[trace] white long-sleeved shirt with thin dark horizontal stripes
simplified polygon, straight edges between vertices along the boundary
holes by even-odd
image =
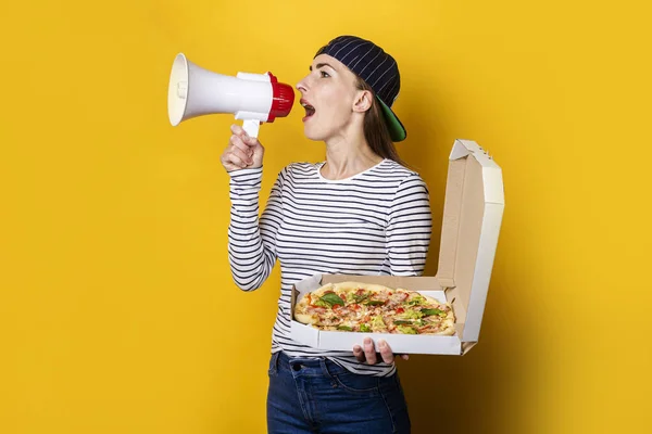
[[[324,163],[294,163],[278,175],[259,218],[262,167],[230,176],[228,254],[236,284],[259,289],[280,261],[272,352],[327,357],[348,370],[391,375],[393,365],[359,362],[351,352],[300,344],[290,334],[292,285],[316,273],[419,276],[430,243],[428,190],[418,174],[384,159],[351,178],[322,177]]]

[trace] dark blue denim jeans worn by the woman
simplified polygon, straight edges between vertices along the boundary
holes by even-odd
[[[267,432],[273,434],[410,433],[399,375],[352,373],[327,360],[272,355]]]

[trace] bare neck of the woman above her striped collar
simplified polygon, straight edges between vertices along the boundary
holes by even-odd
[[[364,132],[339,136],[326,141],[326,164],[322,176],[326,179],[346,179],[367,170],[383,161],[364,138]]]

